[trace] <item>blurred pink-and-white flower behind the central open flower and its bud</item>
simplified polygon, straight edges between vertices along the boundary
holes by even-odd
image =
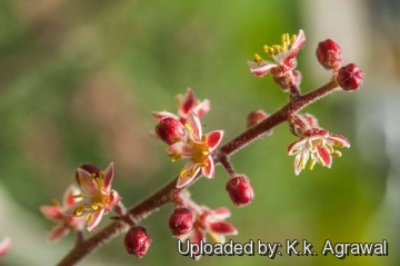
[[[202,117],[210,110],[210,101],[208,99],[199,101],[192,89],[188,89],[186,95],[177,95],[176,102],[178,106],[178,116],[169,111],[154,111],[152,115],[157,121],[164,118],[173,118],[186,124],[189,114],[192,111],[198,117]]]

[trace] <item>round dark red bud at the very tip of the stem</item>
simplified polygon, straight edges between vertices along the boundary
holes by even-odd
[[[363,72],[354,63],[349,63],[339,69],[337,81],[343,90],[352,91],[360,88],[363,76]]]

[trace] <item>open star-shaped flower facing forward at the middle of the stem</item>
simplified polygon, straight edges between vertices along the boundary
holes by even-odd
[[[222,130],[202,135],[200,119],[193,111],[189,114],[184,126],[189,131],[186,141],[174,142],[166,149],[172,161],[189,159],[180,171],[177,188],[191,183],[200,169],[207,178],[214,176],[216,169],[211,151],[217,148],[223,137]]]

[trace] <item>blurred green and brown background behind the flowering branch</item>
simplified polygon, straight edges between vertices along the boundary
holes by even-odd
[[[172,206],[142,223],[153,239],[142,259],[127,255],[122,236],[80,265],[399,265],[400,256],[400,12],[394,0],[363,1],[142,1],[0,0],[0,238],[12,237],[0,265],[54,265],[73,245],[69,235],[46,243],[51,223],[40,205],[60,199],[76,168],[114,161],[114,188],[127,206],[171,179],[164,144],[148,135],[151,111],[176,111],[173,97],[193,88],[212,109],[204,130],[226,140],[244,129],[248,112],[287,102],[270,77],[252,77],[246,61],[278,43],[283,32],[307,35],[299,56],[302,89],[329,79],[317,43],[340,43],[344,62],[364,72],[361,90],[333,93],[304,111],[342,134],[332,169],[299,177],[286,154],[296,138],[287,125],[232,157],[251,178],[254,201],[234,207],[221,167],[190,190],[199,204],[228,206],[234,242],[307,239],[320,253],[333,243],[389,243],[389,256],[203,257],[177,253],[168,228]],[[102,225],[108,223],[106,217]]]

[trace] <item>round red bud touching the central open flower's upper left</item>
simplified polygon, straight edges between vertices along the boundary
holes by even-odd
[[[168,145],[174,144],[187,135],[187,129],[177,119],[167,117],[156,126],[157,136]]]

